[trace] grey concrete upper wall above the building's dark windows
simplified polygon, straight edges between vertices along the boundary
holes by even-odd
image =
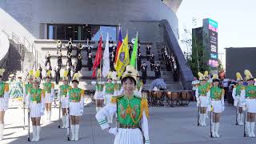
[[[121,24],[123,34],[128,29],[135,35],[138,29],[141,41],[159,42],[162,19],[170,22],[178,38],[178,18],[159,0],[1,0],[0,7],[34,38],[46,38],[46,23]]]

